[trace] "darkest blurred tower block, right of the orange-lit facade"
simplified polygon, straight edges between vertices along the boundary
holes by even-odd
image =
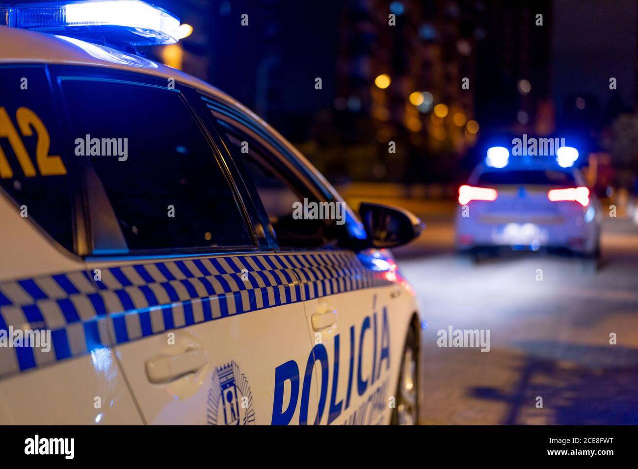
[[[482,37],[476,50],[476,107],[482,127],[494,133],[551,134],[556,111],[549,0],[486,1],[474,22]]]

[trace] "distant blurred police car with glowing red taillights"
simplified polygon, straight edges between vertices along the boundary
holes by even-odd
[[[578,151],[555,158],[518,158],[491,147],[459,188],[456,247],[473,260],[499,248],[566,251],[596,262],[600,202],[574,168]]]

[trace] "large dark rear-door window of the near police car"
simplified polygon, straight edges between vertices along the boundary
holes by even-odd
[[[234,191],[180,93],[61,83],[75,153],[91,162],[130,250],[253,246]]]

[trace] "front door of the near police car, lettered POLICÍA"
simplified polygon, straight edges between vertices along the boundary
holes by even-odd
[[[278,368],[278,380],[299,383],[300,392],[297,403],[274,409],[273,418],[300,424],[387,422],[406,330],[402,323],[408,318],[396,301],[401,288],[394,262],[382,251],[357,254],[343,248],[359,229],[345,205],[330,198],[330,191],[303,165],[295,165],[285,145],[258,124],[239,119],[220,103],[209,101],[207,107],[258,194],[278,256],[300,279],[312,343],[306,359]],[[327,216],[304,217],[320,208],[313,204],[329,204],[323,205]],[[295,207],[300,209],[296,217]],[[299,411],[298,422],[291,409]]]

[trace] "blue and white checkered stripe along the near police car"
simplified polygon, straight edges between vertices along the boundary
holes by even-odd
[[[170,329],[389,283],[350,251],[195,258],[100,273],[100,280],[79,271],[0,283],[0,331],[49,329],[52,339],[48,353],[1,346],[0,378]]]

